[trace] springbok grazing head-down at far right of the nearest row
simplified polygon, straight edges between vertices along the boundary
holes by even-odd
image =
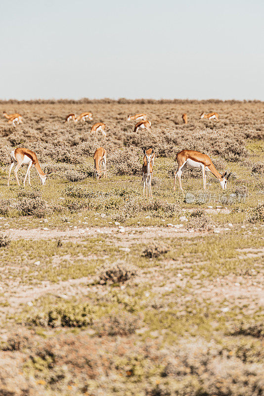
[[[220,185],[223,190],[226,190],[227,180],[231,174],[231,172],[227,175],[227,172],[224,172],[222,175],[216,170],[215,165],[213,164],[211,158],[203,154],[200,151],[194,150],[181,150],[176,155],[176,161],[178,163],[178,169],[174,173],[174,190],[176,186],[176,176],[179,180],[179,188],[183,191],[181,186],[181,175],[188,166],[189,168],[202,169],[203,172],[203,181],[204,181],[204,190],[206,190],[206,171],[210,171],[214,176],[220,181]]]

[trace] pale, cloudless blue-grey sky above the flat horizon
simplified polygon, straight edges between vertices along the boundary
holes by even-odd
[[[263,0],[8,0],[0,99],[262,99]]]

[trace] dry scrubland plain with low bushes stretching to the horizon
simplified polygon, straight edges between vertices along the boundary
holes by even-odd
[[[0,396],[264,395],[263,103],[0,107],[24,119],[0,119]],[[65,123],[84,111],[93,121]],[[150,131],[133,132],[127,116],[139,112]],[[106,138],[90,134],[95,122]],[[16,147],[53,170],[45,186],[33,167],[32,187],[13,173],[7,187]],[[107,179],[93,178],[98,147]],[[152,200],[141,176],[150,147]],[[232,172],[227,190],[208,175],[204,192],[201,171],[187,169],[174,192],[183,148]]]

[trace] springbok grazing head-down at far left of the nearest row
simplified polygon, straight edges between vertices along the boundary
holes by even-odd
[[[11,151],[10,156],[11,156],[11,165],[10,165],[10,168],[9,168],[7,186],[9,186],[10,174],[11,174],[11,170],[12,170],[15,162],[17,162],[17,165],[16,165],[16,167],[14,169],[14,174],[15,174],[15,178],[16,178],[17,184],[19,186],[20,186],[20,183],[19,183],[19,180],[18,180],[18,177],[17,177],[17,172],[18,172],[18,169],[21,167],[21,165],[24,165],[24,164],[28,165],[26,176],[25,176],[25,179],[24,179],[24,182],[23,182],[24,186],[25,186],[25,183],[26,183],[27,176],[28,176],[29,185],[31,186],[31,183],[30,183],[30,168],[32,167],[32,165],[35,166],[35,168],[36,168],[36,170],[37,170],[37,172],[38,172],[38,174],[39,174],[39,176],[41,178],[41,181],[42,181],[43,185],[46,183],[47,176],[50,175],[50,173],[52,173],[52,171],[49,172],[49,170],[47,169],[48,172],[45,174],[43,172],[43,170],[41,169],[41,166],[39,164],[39,161],[38,161],[36,153],[31,151],[31,150],[28,150],[27,148],[21,148],[21,147],[15,148],[14,150]],[[44,168],[44,170],[45,170],[45,168]]]

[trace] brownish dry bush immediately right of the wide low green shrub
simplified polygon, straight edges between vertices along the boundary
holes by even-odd
[[[129,336],[142,326],[138,316],[130,312],[111,312],[98,320],[93,326],[100,337]]]

